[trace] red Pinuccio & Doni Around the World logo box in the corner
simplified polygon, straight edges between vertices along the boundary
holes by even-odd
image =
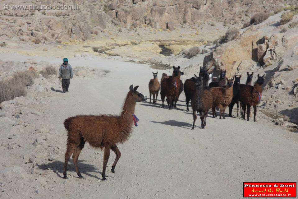
[[[243,182],[243,197],[297,197],[296,182]]]

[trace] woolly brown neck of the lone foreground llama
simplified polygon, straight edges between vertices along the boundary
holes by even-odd
[[[131,91],[128,92],[126,96],[122,110],[121,118],[132,124],[132,114],[135,113],[135,99],[133,98]]]

